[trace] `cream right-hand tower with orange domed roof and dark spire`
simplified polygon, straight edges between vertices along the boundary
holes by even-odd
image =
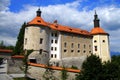
[[[111,60],[109,50],[109,34],[100,27],[99,21],[98,15],[95,12],[94,28],[91,30],[91,34],[93,35],[93,54],[99,56],[102,62],[104,62]]]

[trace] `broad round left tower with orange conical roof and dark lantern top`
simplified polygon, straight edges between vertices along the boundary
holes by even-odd
[[[27,23],[24,35],[24,50],[33,49],[29,59],[37,63],[47,64],[49,60],[49,28],[41,18],[41,10],[36,11],[36,17]]]

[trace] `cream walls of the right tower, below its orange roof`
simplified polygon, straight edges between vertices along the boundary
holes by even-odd
[[[93,54],[102,59],[102,62],[110,60],[108,35],[93,35]],[[97,50],[95,50],[97,46]]]

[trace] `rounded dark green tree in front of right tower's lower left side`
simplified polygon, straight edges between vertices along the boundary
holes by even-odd
[[[82,70],[76,75],[76,80],[101,80],[102,62],[96,55],[91,55],[82,64]]]

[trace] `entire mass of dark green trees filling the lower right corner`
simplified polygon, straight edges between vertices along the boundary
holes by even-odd
[[[76,75],[76,80],[120,80],[120,56],[113,56],[111,62],[102,63],[99,57],[89,56]]]

